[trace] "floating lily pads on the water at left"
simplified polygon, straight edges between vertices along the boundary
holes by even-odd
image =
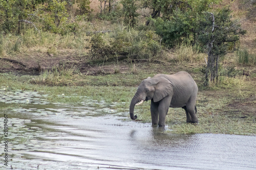
[[[77,94],[73,94],[77,96]],[[71,96],[59,95],[62,98],[71,98]],[[81,98],[83,96],[80,96]],[[115,107],[117,103],[109,105],[104,101],[91,100],[89,97],[83,97],[84,101],[78,106],[70,106],[69,104],[50,103],[45,99],[47,94],[39,94],[37,91],[25,91],[25,90],[5,90],[0,89],[0,106],[6,106],[7,104],[26,104],[23,107],[17,107],[12,111],[32,112],[33,115],[98,115],[116,113],[115,110],[110,107]]]

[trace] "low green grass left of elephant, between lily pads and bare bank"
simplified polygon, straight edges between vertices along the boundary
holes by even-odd
[[[83,86],[52,86],[52,84],[51,86],[48,86],[43,84],[34,84],[34,80],[38,79],[38,76],[14,76],[12,74],[0,74],[0,87],[6,88],[7,90],[36,90],[42,94],[49,94],[47,99],[50,102],[75,104],[82,102],[83,99],[80,96],[90,96],[93,100],[105,100],[108,103],[129,102],[136,92],[136,87],[127,87],[123,85],[116,86],[118,82],[124,84],[125,81],[121,80],[121,75],[118,76],[119,78],[114,80],[111,79],[112,76],[116,75],[80,77],[80,79],[86,79],[84,80],[86,83],[83,82]],[[102,80],[100,80],[101,78]],[[108,80],[109,85],[113,86],[107,86],[105,83],[106,80]],[[31,84],[30,82],[33,83]],[[136,79],[134,82],[137,82]],[[78,95],[72,96],[71,98],[63,98],[62,96],[59,96],[62,94],[65,94],[65,96],[71,96],[72,94]]]

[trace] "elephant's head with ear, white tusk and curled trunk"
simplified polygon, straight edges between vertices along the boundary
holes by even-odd
[[[130,117],[136,119],[137,115],[134,116],[134,107],[144,101],[153,100],[159,102],[167,95],[172,95],[173,84],[163,77],[151,78],[143,80],[137,92],[135,93],[132,102],[130,104]]]

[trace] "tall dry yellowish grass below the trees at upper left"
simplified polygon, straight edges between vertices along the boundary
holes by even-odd
[[[58,54],[82,55],[89,46],[90,37],[86,32],[67,34],[60,36],[49,32],[35,32],[33,29],[26,30],[23,35],[7,35],[0,37],[0,56],[19,56],[19,53],[31,55],[48,54],[57,56]]]

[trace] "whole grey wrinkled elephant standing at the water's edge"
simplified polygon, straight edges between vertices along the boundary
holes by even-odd
[[[130,105],[130,116],[134,116],[135,104],[151,100],[152,125],[165,126],[165,117],[169,107],[179,108],[186,112],[187,123],[198,123],[196,116],[196,99],[198,87],[193,78],[185,71],[174,75],[157,74],[143,80]]]

